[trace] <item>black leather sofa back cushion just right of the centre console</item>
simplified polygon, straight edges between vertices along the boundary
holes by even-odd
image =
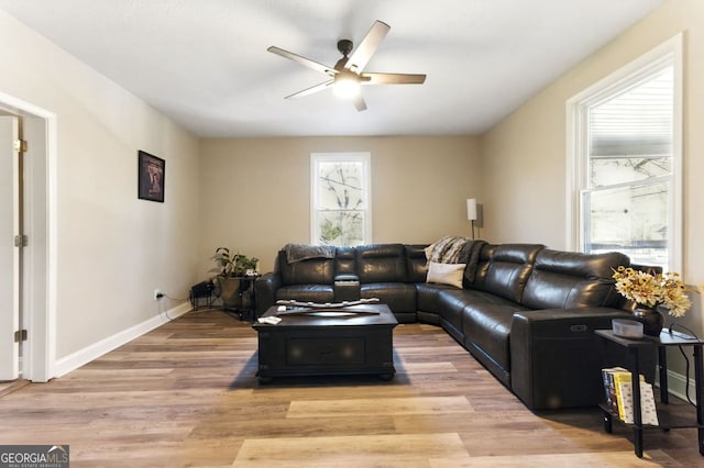
[[[355,252],[361,283],[406,282],[408,272],[403,244],[361,245]]]

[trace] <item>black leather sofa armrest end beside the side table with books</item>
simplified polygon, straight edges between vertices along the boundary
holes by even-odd
[[[509,337],[512,390],[531,410],[598,404],[601,369],[627,356],[594,331],[628,315],[612,308],[516,312]]]

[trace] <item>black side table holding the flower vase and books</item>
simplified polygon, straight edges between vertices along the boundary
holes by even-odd
[[[642,457],[642,432],[644,428],[661,428],[664,431],[671,428],[682,427],[696,427],[697,428],[697,443],[700,454],[704,455],[704,371],[702,369],[702,346],[704,342],[698,341],[694,336],[690,336],[679,332],[662,331],[660,337],[644,336],[642,338],[624,338],[614,335],[610,330],[596,330],[598,336],[604,339],[616,343],[619,346],[624,346],[628,349],[630,355],[630,364],[628,369],[632,377],[632,395],[634,395],[634,450],[638,457]],[[658,411],[658,426],[650,426],[642,424],[640,412],[640,363],[638,360],[639,350],[644,348],[650,348],[652,346],[658,347],[658,366],[660,369],[660,403],[657,405]],[[696,420],[693,415],[682,414],[675,410],[688,406],[683,405],[669,405],[668,395],[668,360],[666,348],[669,346],[692,346],[694,354],[694,387],[696,389]],[[612,420],[614,416],[618,420],[618,414],[614,414],[606,404],[601,404],[600,408],[604,414],[604,430],[607,433],[612,432]]]

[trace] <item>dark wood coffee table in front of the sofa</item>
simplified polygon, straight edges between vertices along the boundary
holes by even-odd
[[[255,322],[260,382],[274,377],[376,374],[392,379],[393,331],[398,324],[386,304],[363,304],[340,312],[270,308],[276,325]],[[295,312],[295,313],[292,313]]]

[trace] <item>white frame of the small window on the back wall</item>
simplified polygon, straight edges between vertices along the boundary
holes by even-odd
[[[318,223],[318,172],[320,163],[362,163],[362,191],[365,207],[362,235],[363,244],[372,244],[372,155],[370,153],[311,153],[310,154],[310,243],[320,243]]]

